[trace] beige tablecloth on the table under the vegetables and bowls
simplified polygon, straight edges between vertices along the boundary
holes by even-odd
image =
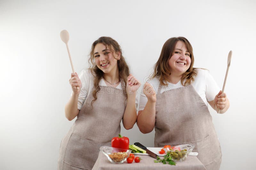
[[[115,170],[115,169],[134,169],[134,170],[155,170],[155,169],[179,169],[179,170],[205,170],[204,165],[197,159],[196,156],[188,156],[185,161],[177,162],[176,166],[169,165],[169,164],[163,164],[160,163],[154,163],[154,158],[147,155],[135,155],[142,158],[142,160],[139,163],[135,163],[134,161],[131,164],[128,164],[127,161],[125,161],[123,164],[113,164],[109,162],[108,158],[102,153],[99,153],[98,159],[96,163],[93,166],[93,170]],[[163,157],[160,157],[163,159]]]

